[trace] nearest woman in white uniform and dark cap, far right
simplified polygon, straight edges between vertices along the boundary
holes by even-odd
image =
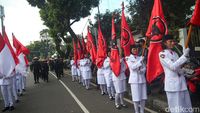
[[[165,73],[164,90],[167,94],[169,110],[171,113],[192,113],[188,111],[192,109],[192,105],[184,73],[181,70],[181,66],[189,56],[189,48],[183,50],[183,55],[179,57],[172,50],[175,45],[172,35],[165,35],[163,44],[166,49],[159,53],[159,59]],[[187,112],[183,109],[187,109]]]

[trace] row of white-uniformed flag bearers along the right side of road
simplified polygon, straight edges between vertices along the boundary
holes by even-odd
[[[172,50],[175,43],[172,35],[163,37],[163,45],[166,47],[160,52],[160,62],[165,73],[164,90],[167,95],[168,107],[171,113],[185,113],[181,109],[172,110],[173,108],[192,108],[190,95],[188,93],[184,72],[181,66],[187,61],[189,49],[183,51],[179,58],[177,53]],[[146,61],[138,53],[137,45],[131,46],[131,55],[128,57],[121,56],[120,75],[115,76],[110,68],[110,51],[107,52],[107,58],[104,60],[102,68],[97,71],[97,83],[100,86],[101,94],[108,94],[110,100],[115,100],[115,107],[120,109],[126,108],[124,103],[124,93],[127,91],[127,78],[131,88],[133,108],[135,113],[144,113],[145,102],[147,100],[147,83],[146,83]],[[82,82],[86,89],[90,88],[91,77],[91,60],[86,54],[83,59],[75,62],[71,59],[72,81]],[[129,76],[125,75],[126,69],[129,69]],[[182,73],[180,73],[182,72]],[[78,79],[79,78],[79,79]],[[189,112],[191,113],[191,112]]]

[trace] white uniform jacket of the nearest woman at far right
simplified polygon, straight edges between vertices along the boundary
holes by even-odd
[[[181,66],[187,61],[187,58],[184,55],[179,58],[174,51],[165,49],[159,53],[159,59],[165,72],[165,91],[187,90],[185,77],[179,74]]]

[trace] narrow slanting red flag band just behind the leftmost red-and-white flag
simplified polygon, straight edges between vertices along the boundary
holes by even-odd
[[[16,54],[15,54],[15,52],[14,52],[14,50],[13,50],[11,44],[10,44],[10,41],[9,41],[8,36],[6,34],[5,28],[4,28],[4,33],[3,34],[4,34],[3,35],[3,37],[4,37],[3,39],[4,39],[5,43],[7,44],[8,48],[10,49],[10,52],[12,53],[12,56],[13,56],[13,58],[15,60],[15,64],[17,65],[19,63],[19,59],[17,58],[17,56],[16,56]]]

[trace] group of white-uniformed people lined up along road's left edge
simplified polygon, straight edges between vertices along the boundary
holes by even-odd
[[[1,93],[4,101],[2,112],[14,110],[14,103],[18,103],[19,96],[26,91],[26,77],[28,75],[27,68],[25,72],[19,71],[17,68],[13,70],[10,76],[0,73]]]

